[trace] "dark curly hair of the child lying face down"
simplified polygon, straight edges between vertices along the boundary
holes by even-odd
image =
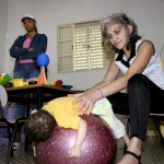
[[[30,140],[39,142],[49,138],[55,126],[56,120],[54,116],[47,110],[40,109],[26,119],[24,131]]]

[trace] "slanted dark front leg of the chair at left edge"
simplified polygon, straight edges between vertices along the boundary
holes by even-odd
[[[10,142],[10,145],[9,145],[9,149],[8,149],[5,164],[9,164],[10,156],[13,156],[12,144],[13,144],[13,141],[14,141],[16,128],[17,128],[17,124],[15,122],[15,126],[13,128],[13,133],[12,133],[11,142]]]

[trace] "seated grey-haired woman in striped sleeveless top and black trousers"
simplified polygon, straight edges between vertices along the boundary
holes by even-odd
[[[150,113],[164,107],[164,72],[160,55],[152,42],[141,39],[133,20],[116,13],[102,22],[103,37],[115,49],[115,58],[105,78],[93,87],[75,96],[82,102],[78,112],[92,110],[95,102],[107,96],[117,114],[129,114],[130,144],[119,164],[138,164],[145,140]],[[119,72],[121,77],[118,77]],[[128,94],[119,93],[128,89]]]

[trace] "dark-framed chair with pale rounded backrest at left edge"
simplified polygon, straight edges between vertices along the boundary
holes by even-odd
[[[3,107],[8,103],[8,94],[5,89],[0,85],[0,128],[5,128],[9,137],[9,149],[7,154],[5,164],[9,164],[10,157],[13,157],[12,144],[15,137],[15,131],[19,126],[22,126],[25,121],[25,117],[19,118],[16,120],[8,120],[4,116]],[[25,140],[25,150],[27,150],[27,143]]]

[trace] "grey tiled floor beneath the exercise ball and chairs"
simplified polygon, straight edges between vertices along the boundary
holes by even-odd
[[[7,145],[0,145],[0,164],[5,163]],[[117,156],[115,164],[122,156],[124,143],[117,141]],[[24,152],[22,145],[21,152],[14,152],[14,159],[10,160],[10,164],[36,164],[32,151]],[[164,164],[164,147],[162,147],[159,138],[148,138],[143,145],[142,164]]]

